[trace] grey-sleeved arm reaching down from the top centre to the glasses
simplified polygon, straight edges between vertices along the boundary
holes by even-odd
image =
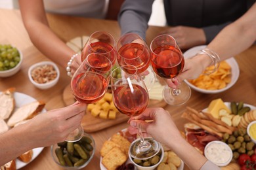
[[[118,16],[122,35],[133,32],[139,34],[142,39],[146,39],[153,2],[154,0],[124,1]]]

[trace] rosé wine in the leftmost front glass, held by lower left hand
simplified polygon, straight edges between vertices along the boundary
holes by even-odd
[[[95,72],[81,73],[71,82],[75,99],[86,104],[100,100],[104,96],[107,86],[106,78]]]

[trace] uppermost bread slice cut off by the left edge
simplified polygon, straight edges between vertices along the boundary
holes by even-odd
[[[9,118],[14,109],[14,92],[15,88],[9,88],[0,94],[0,118],[3,120]]]

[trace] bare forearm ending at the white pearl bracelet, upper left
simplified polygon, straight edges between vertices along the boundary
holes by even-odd
[[[26,29],[40,52],[60,66],[66,67],[71,56],[75,54],[74,50],[61,41],[47,25],[36,22],[26,25]]]

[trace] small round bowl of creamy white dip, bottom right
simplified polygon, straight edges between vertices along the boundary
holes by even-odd
[[[224,167],[233,158],[233,152],[228,144],[222,141],[211,141],[204,148],[204,155],[207,160],[215,163],[219,167]]]

